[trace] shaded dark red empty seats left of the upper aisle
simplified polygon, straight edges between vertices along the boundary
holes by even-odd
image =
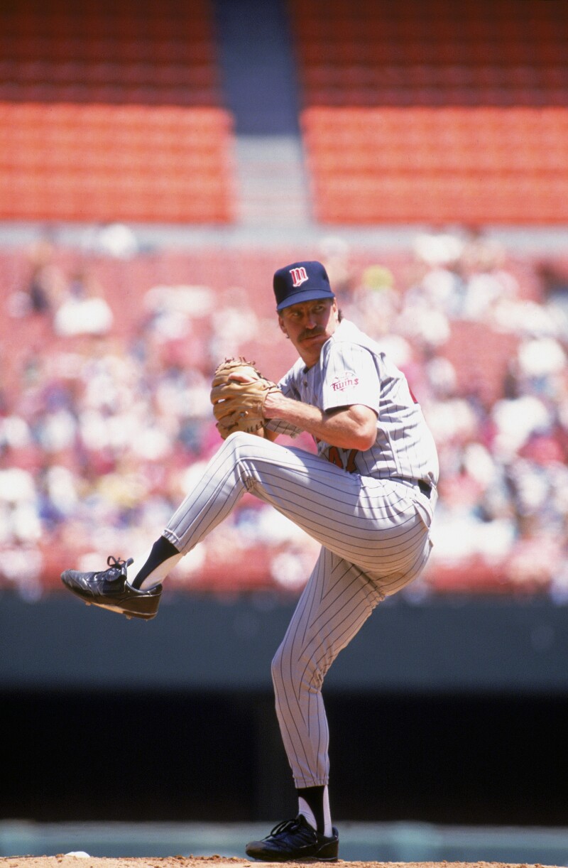
[[[209,0],[28,0],[0,10],[0,100],[221,104]]]

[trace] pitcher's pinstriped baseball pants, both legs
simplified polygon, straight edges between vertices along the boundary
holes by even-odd
[[[323,678],[385,595],[420,574],[428,528],[421,495],[360,477],[304,450],[237,432],[212,457],[164,536],[184,554],[250,491],[322,544],[317,564],[272,661],[277,717],[297,787],[329,779]]]

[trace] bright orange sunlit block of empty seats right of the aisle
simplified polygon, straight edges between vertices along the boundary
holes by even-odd
[[[568,109],[311,107],[317,220],[568,221]]]

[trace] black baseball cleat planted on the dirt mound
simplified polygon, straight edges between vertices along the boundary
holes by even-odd
[[[339,834],[334,827],[331,838],[326,838],[298,814],[275,825],[262,841],[251,841],[245,852],[262,862],[336,862]]]

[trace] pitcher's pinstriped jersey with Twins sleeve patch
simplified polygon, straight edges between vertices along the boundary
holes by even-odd
[[[278,385],[286,397],[322,411],[364,404],[376,412],[376,440],[369,450],[339,449],[320,441],[318,455],[365,477],[438,482],[434,438],[406,377],[349,320],[343,319],[323,345],[317,365],[306,370],[299,358]],[[295,426],[277,420],[271,420],[269,427],[292,437],[299,433]]]

